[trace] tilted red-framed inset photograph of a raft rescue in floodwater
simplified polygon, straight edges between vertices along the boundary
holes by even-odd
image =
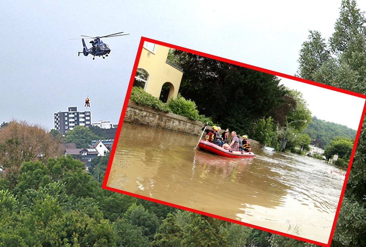
[[[102,188],[329,246],[365,99],[142,37]]]

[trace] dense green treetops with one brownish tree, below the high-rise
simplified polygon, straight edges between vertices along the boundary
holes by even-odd
[[[72,130],[74,131],[74,130]],[[88,127],[67,140],[85,142]],[[77,135],[76,135],[77,134]],[[109,155],[85,164],[59,152],[56,131],[0,126],[0,246],[270,246],[272,234],[101,189]],[[99,181],[99,182],[98,182]]]

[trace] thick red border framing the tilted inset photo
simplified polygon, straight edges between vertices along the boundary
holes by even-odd
[[[234,219],[229,219],[229,218],[222,217],[222,216],[219,216],[219,215],[213,215],[211,213],[207,213],[207,212],[203,212],[203,211],[199,211],[199,210],[195,210],[195,209],[183,207],[183,206],[180,206],[180,205],[177,205],[177,204],[172,204],[172,203],[169,203],[169,202],[157,200],[157,199],[150,198],[150,197],[146,197],[146,196],[141,196],[141,195],[138,195],[138,194],[134,194],[134,193],[131,193],[131,192],[127,192],[127,191],[124,191],[124,190],[119,190],[119,189],[115,189],[115,188],[111,188],[111,187],[107,186],[107,181],[108,181],[108,178],[109,178],[109,173],[111,171],[111,166],[112,166],[112,163],[113,163],[113,158],[114,158],[114,155],[115,155],[115,152],[116,152],[116,147],[117,147],[118,139],[119,139],[119,136],[120,136],[120,132],[122,130],[124,116],[126,114],[128,100],[130,99],[131,89],[132,89],[132,85],[133,85],[133,82],[134,82],[134,79],[135,79],[135,72],[137,70],[139,58],[141,56],[142,46],[143,46],[143,43],[145,41],[151,42],[151,43],[155,43],[157,45],[167,46],[167,47],[170,47],[170,48],[173,48],[173,49],[177,49],[177,50],[186,51],[188,53],[197,54],[197,55],[200,55],[200,56],[203,56],[203,57],[208,57],[208,58],[220,60],[220,61],[223,61],[223,62],[227,62],[227,63],[231,63],[231,64],[234,64],[234,65],[246,67],[246,68],[249,68],[249,69],[258,70],[258,71],[261,71],[261,72],[264,72],[264,73],[273,74],[273,75],[276,75],[276,76],[279,76],[279,77],[284,77],[284,78],[288,78],[288,79],[291,79],[291,80],[303,82],[303,83],[306,83],[306,84],[310,84],[310,85],[314,85],[314,86],[320,86],[322,88],[330,89],[330,90],[337,91],[337,92],[341,92],[341,93],[346,93],[346,94],[349,94],[349,95],[352,95],[352,96],[360,97],[362,99],[366,99],[366,95],[364,95],[364,94],[359,94],[359,93],[351,92],[351,91],[348,91],[348,90],[345,90],[345,89],[336,88],[336,87],[329,86],[329,85],[325,85],[325,84],[320,84],[318,82],[305,80],[305,79],[302,79],[302,78],[299,78],[299,77],[290,76],[290,75],[287,75],[287,74],[283,74],[283,73],[280,73],[280,72],[275,72],[275,71],[268,70],[268,69],[263,69],[261,67],[249,65],[249,64],[246,64],[246,63],[241,63],[241,62],[233,61],[233,60],[230,60],[230,59],[226,59],[226,58],[222,58],[222,57],[217,57],[217,56],[214,56],[214,55],[210,55],[210,54],[202,53],[202,52],[199,52],[199,51],[187,49],[187,48],[184,48],[184,47],[180,47],[180,46],[176,46],[176,45],[171,45],[171,44],[168,44],[168,43],[165,43],[165,42],[161,42],[161,41],[158,41],[158,40],[149,39],[149,38],[146,38],[146,37],[141,37],[140,44],[139,44],[139,47],[138,47],[138,52],[137,52],[136,59],[135,59],[135,63],[134,63],[134,67],[133,67],[132,73],[131,73],[130,82],[128,84],[126,98],[125,98],[125,101],[124,101],[124,104],[123,104],[122,112],[121,112],[121,115],[120,115],[120,120],[119,120],[118,127],[117,127],[117,130],[116,130],[115,140],[113,142],[113,146],[112,146],[111,154],[110,154],[110,157],[109,157],[107,169],[105,171],[105,176],[104,176],[102,188],[103,189],[107,189],[107,190],[111,190],[111,191],[114,191],[114,192],[126,194],[128,196],[134,196],[134,197],[138,197],[138,198],[141,198],[141,199],[144,199],[144,200],[149,200],[149,201],[157,202],[157,203],[164,204],[164,205],[167,205],[167,206],[171,206],[171,207],[183,209],[183,210],[186,210],[186,211],[190,211],[190,212],[194,212],[194,213],[199,213],[201,215],[206,215],[206,216],[209,216],[209,217],[214,217],[214,218],[217,218],[217,219],[220,219],[220,220],[225,220],[225,221],[229,221],[229,222],[232,222],[232,223],[245,225],[247,227],[252,227],[252,228],[260,229],[260,230],[263,230],[263,231],[271,232],[273,234],[283,235],[283,236],[286,236],[286,237],[289,237],[289,238],[294,238],[294,239],[302,240],[302,241],[305,241],[305,242],[309,242],[309,243],[313,243],[313,244],[318,244],[320,246],[329,247],[330,246],[330,243],[332,241],[332,238],[333,238],[334,229],[336,227],[337,218],[338,218],[338,215],[339,215],[339,209],[341,207],[341,203],[342,203],[342,199],[343,199],[343,195],[344,195],[344,190],[346,189],[348,176],[349,176],[350,169],[351,169],[351,166],[352,166],[352,161],[353,161],[353,158],[354,158],[354,155],[355,155],[355,150],[356,150],[356,147],[357,147],[358,138],[359,138],[359,135],[360,135],[360,132],[361,132],[361,127],[362,127],[362,123],[363,123],[363,117],[365,116],[365,112],[366,112],[366,102],[365,102],[365,105],[363,107],[363,111],[362,111],[362,115],[361,115],[361,120],[360,120],[360,123],[359,123],[359,126],[358,126],[358,130],[357,130],[357,134],[356,134],[356,138],[355,138],[355,143],[354,143],[353,150],[352,150],[352,154],[351,154],[351,158],[350,158],[350,163],[348,165],[347,174],[345,176],[345,180],[344,180],[344,184],[343,184],[343,187],[342,187],[341,196],[340,196],[340,199],[339,199],[339,203],[338,203],[338,207],[337,207],[335,219],[333,221],[333,226],[332,226],[332,230],[330,232],[330,236],[329,236],[328,243],[316,242],[316,241],[311,240],[311,239],[301,238],[301,237],[298,237],[298,236],[295,236],[295,235],[286,234],[284,232],[275,231],[273,229],[259,227],[259,226],[256,226],[256,225],[244,223],[242,221],[238,221],[238,220],[234,220]]]

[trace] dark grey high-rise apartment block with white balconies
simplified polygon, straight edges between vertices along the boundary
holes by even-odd
[[[79,112],[77,107],[69,107],[68,111],[56,112],[54,114],[55,129],[65,134],[68,130],[72,130],[75,126],[91,126],[91,112]]]

